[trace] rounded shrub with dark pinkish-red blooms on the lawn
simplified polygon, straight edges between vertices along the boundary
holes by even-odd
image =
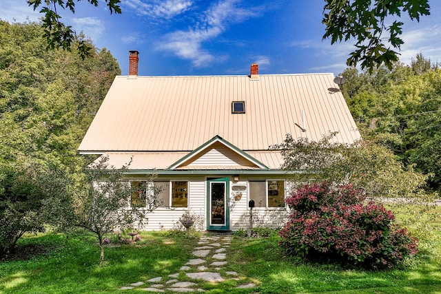
[[[365,269],[387,269],[417,253],[417,240],[394,224],[381,204],[365,202],[352,185],[305,185],[287,199],[292,209],[280,231],[287,255]]]

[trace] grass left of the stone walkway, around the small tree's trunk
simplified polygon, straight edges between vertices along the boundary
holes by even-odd
[[[19,250],[29,244],[50,249],[27,260],[1,262],[0,293],[114,293],[121,286],[178,272],[197,242],[185,235],[141,236],[134,245],[107,246],[103,266],[99,248],[91,242],[61,235],[24,238]]]

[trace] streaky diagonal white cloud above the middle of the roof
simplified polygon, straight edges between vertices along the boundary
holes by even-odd
[[[238,8],[238,0],[223,0],[203,13],[196,28],[167,34],[158,44],[158,50],[173,52],[177,56],[192,61],[194,66],[203,67],[209,62],[225,60],[226,56],[215,57],[203,49],[203,42],[216,38],[229,24],[240,23],[250,17],[258,16],[253,9]]]

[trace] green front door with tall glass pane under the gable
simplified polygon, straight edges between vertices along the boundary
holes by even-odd
[[[207,230],[229,231],[229,178],[207,179]]]

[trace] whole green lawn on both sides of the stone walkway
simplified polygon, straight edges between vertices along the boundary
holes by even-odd
[[[229,264],[220,273],[225,277],[225,271],[236,271],[239,280],[206,282],[201,287],[206,293],[441,293],[438,236],[438,240],[426,243],[407,268],[379,272],[288,260],[281,255],[275,234],[269,238],[235,237],[227,253]],[[27,258],[0,263],[0,293],[145,293],[118,288],[179,272],[192,258],[198,241],[167,232],[143,233],[142,237],[134,245],[106,247],[105,264],[100,266],[99,249],[91,242],[54,234],[29,235],[19,248]],[[235,288],[249,282],[257,287]]]

